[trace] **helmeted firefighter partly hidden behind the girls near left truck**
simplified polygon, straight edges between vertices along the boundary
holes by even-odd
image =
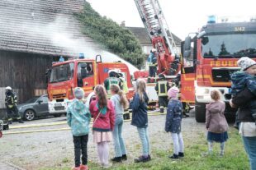
[[[105,89],[107,90],[107,97],[110,98],[111,97],[111,91],[110,91],[110,86],[115,84],[115,85],[119,85],[120,89],[122,90],[122,83],[121,83],[121,79],[119,78],[120,75],[117,71],[115,70],[110,70],[108,71],[108,78],[106,80],[104,80],[104,86]]]

